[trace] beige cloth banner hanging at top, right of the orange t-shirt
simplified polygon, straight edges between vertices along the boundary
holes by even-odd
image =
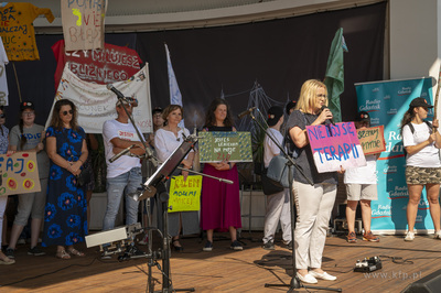
[[[66,51],[104,47],[107,0],[62,0],[61,9]]]

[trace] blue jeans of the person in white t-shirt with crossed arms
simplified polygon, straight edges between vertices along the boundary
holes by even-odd
[[[133,200],[128,194],[135,193],[142,184],[140,167],[132,167],[114,178],[107,178],[107,209],[104,216],[103,230],[114,229],[121,196],[126,194],[126,225],[138,223],[139,202]]]

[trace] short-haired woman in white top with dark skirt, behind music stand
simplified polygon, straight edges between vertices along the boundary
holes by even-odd
[[[182,120],[182,116],[183,109],[179,105],[169,105],[162,112],[162,118],[165,121],[164,127],[159,129],[154,134],[154,146],[158,159],[161,163],[165,162],[165,160],[174,152],[174,150],[182,144],[184,137],[190,135],[187,129],[182,129],[178,126]],[[194,152],[191,151],[187,156],[182,160],[181,166],[185,169],[192,169],[193,159]],[[189,172],[178,169],[173,175],[183,175],[184,180],[186,180]],[[161,230],[163,230],[161,204],[158,204],[158,211],[159,227]],[[172,245],[175,251],[183,250],[179,241],[181,229],[183,235],[200,232],[197,211],[169,213],[169,234],[173,237]]]

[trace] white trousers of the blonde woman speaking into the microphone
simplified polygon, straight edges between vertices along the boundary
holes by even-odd
[[[335,184],[293,182],[297,208],[295,267],[298,270],[321,268],[331,211],[337,193]]]

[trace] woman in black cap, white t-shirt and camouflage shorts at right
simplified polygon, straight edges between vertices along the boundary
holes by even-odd
[[[407,204],[409,230],[405,241],[415,239],[413,226],[424,186],[434,227],[434,238],[441,239],[439,204],[441,135],[438,132],[438,119],[434,119],[432,123],[424,121],[429,108],[433,108],[433,106],[430,106],[424,98],[415,98],[401,120],[402,144],[407,152],[406,183],[409,192],[409,203]]]

